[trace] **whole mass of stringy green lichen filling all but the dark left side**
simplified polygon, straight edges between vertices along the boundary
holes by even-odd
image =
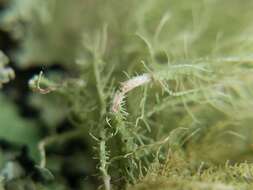
[[[82,137],[105,190],[251,188],[253,2],[24,2],[3,20],[28,25],[17,64],[65,68],[29,85],[74,126],[38,143],[42,168],[47,146]]]

